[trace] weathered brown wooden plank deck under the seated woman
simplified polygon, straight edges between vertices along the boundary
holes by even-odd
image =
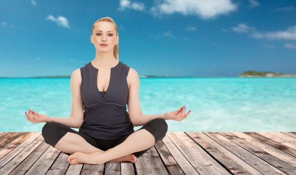
[[[169,132],[136,163],[67,159],[40,132],[0,132],[0,175],[296,175],[296,133]]]

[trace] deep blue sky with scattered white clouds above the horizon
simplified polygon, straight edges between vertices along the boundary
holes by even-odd
[[[139,75],[296,73],[294,0],[1,0],[0,77],[71,75],[95,57],[93,23],[119,28]]]

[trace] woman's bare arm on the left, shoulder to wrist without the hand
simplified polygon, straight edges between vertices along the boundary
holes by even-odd
[[[83,122],[83,103],[80,93],[81,74],[80,69],[74,70],[71,75],[70,89],[72,94],[72,112],[70,117],[49,117],[48,121],[58,122],[79,128]]]

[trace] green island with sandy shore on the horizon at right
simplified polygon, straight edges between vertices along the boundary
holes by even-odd
[[[239,77],[296,77],[296,74],[284,74],[278,72],[245,71]]]

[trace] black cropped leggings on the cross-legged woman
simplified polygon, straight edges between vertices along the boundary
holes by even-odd
[[[165,137],[167,130],[168,130],[168,125],[164,119],[154,118],[154,119],[148,121],[146,124],[144,124],[137,131],[139,131],[141,129],[146,129],[149,133],[151,133],[154,136],[155,144],[156,144],[157,142],[161,141]],[[44,141],[47,144],[55,147],[55,145],[59,142],[59,140],[62,137],[64,137],[67,134],[67,132],[72,132],[72,133],[78,134],[79,136],[83,137],[84,140],[86,142],[88,142],[89,144],[91,144],[92,146],[95,146],[103,151],[106,151],[109,148],[112,148],[114,146],[121,144],[122,142],[125,141],[125,139],[129,135],[131,135],[132,133],[137,132],[137,131],[130,132],[130,133],[128,133],[116,140],[104,140],[104,139],[92,138],[86,134],[82,134],[78,131],[75,131],[71,127],[61,124],[61,123],[47,122],[42,128],[42,136],[44,138]],[[149,148],[151,148],[151,147],[149,147]],[[141,155],[143,155],[148,149],[142,150],[139,152],[135,152],[133,154],[138,158]],[[71,155],[70,153],[67,153],[67,152],[65,152],[65,153],[67,155]]]

